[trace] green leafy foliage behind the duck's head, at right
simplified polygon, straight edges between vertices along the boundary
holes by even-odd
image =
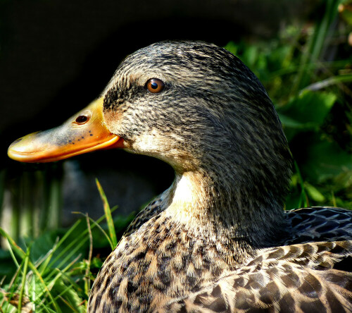
[[[352,209],[351,4],[325,1],[315,25],[290,25],[270,42],[225,47],[258,75],[279,113],[296,160],[287,209]]]

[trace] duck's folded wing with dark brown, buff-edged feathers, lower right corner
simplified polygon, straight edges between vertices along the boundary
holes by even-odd
[[[160,312],[352,312],[352,274],[334,269],[352,242],[270,248],[232,274]]]

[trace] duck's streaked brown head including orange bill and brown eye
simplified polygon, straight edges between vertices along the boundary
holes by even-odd
[[[219,205],[282,211],[291,173],[282,125],[258,78],[213,44],[158,42],[134,52],[94,104],[20,138],[8,155],[56,161],[108,147],[162,159],[176,180],[197,173]]]

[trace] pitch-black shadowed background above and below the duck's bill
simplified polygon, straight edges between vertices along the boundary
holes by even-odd
[[[38,169],[8,159],[8,145],[27,133],[52,128],[87,106],[127,54],[163,39],[202,39],[220,46],[241,38],[269,39],[281,25],[317,14],[321,3],[2,0],[0,161],[6,181],[16,185],[23,171]],[[60,174],[68,211],[101,207],[94,177],[122,211],[138,209],[173,178],[162,162],[120,151],[75,160]]]

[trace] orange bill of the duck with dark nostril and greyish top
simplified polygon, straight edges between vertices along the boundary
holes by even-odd
[[[111,133],[103,121],[103,99],[99,98],[63,125],[15,140],[8,156],[21,162],[51,162],[98,149],[122,147],[123,140]]]

